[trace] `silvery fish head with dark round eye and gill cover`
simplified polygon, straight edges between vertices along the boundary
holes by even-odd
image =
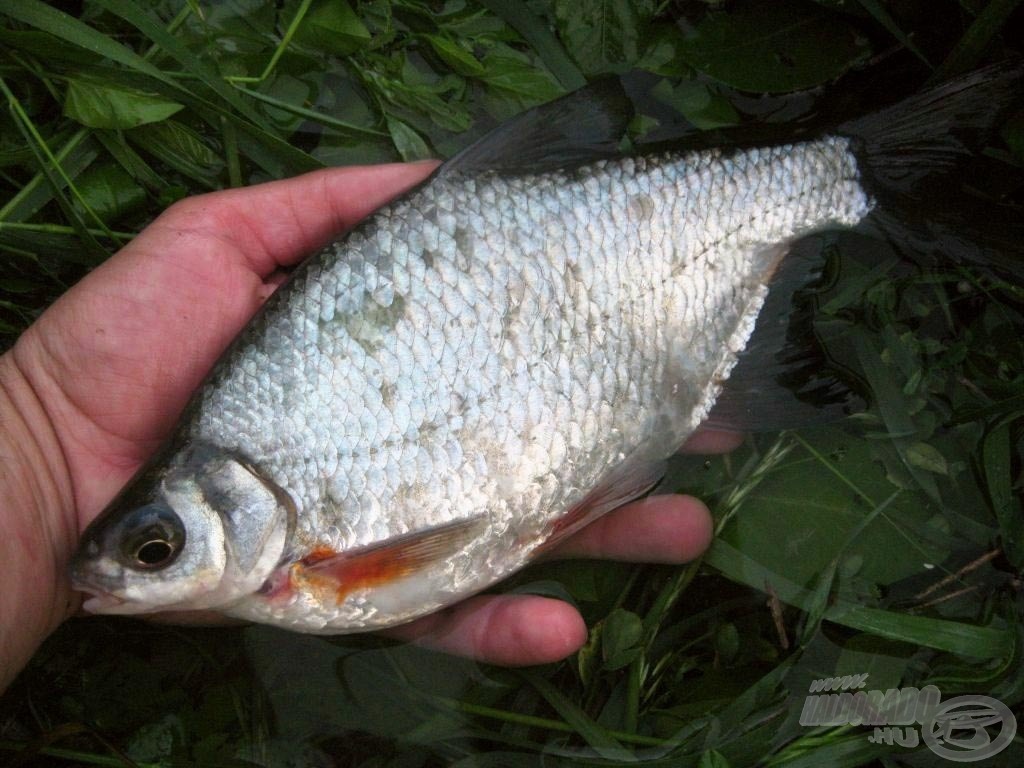
[[[75,589],[94,613],[216,609],[256,592],[295,522],[251,462],[198,445],[139,475],[83,534]]]

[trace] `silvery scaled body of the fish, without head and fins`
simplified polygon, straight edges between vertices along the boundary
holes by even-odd
[[[857,223],[869,203],[856,179],[829,138],[456,175],[385,207],[271,299],[187,434],[292,496],[296,557],[485,524],[415,589],[230,612],[375,628],[519,567],[609,466],[665,458],[696,428],[753,328],[772,249]]]

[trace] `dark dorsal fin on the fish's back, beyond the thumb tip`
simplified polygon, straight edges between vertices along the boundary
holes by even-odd
[[[502,123],[437,174],[542,173],[613,157],[632,118],[618,79],[600,80]]]

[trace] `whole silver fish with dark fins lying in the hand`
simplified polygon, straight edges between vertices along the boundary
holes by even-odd
[[[1020,80],[981,70],[767,145],[623,155],[618,84],[513,118],[270,297],[84,531],[85,610],[393,627],[646,493],[701,425],[809,408],[797,369],[804,400],[844,408],[791,332],[820,273],[794,244],[934,233],[922,190]]]

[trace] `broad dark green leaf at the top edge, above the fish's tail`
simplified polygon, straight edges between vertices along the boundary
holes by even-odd
[[[693,69],[760,93],[826,83],[869,52],[867,41],[842,16],[795,3],[709,12],[679,43],[679,55]]]

